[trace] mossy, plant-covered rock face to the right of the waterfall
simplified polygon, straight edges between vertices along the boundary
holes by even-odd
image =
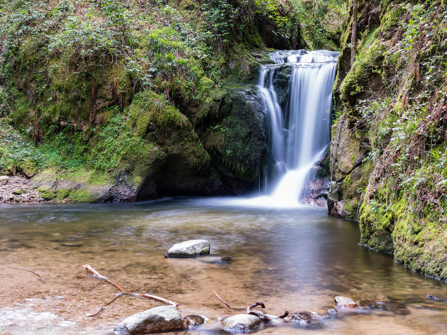
[[[352,22],[344,22],[328,194],[330,214],[360,223],[361,243],[442,279],[447,90],[439,55],[447,47],[434,47],[446,29],[434,22],[446,9],[442,2],[359,4],[352,66]]]

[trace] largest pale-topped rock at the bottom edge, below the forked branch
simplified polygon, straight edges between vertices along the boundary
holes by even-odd
[[[115,334],[145,334],[183,329],[180,312],[173,306],[159,306],[124,319],[115,327]]]

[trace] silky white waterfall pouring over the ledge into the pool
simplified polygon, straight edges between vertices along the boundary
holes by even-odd
[[[257,87],[271,124],[271,154],[278,177],[271,192],[266,185],[268,195],[252,199],[257,204],[297,205],[309,169],[325,155],[331,136],[330,109],[338,54],[328,50],[281,50],[270,54],[275,64],[261,67]],[[291,67],[290,93],[283,107],[274,88],[278,67]]]

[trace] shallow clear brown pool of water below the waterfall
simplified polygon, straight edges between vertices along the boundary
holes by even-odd
[[[188,239],[207,239],[211,255],[231,260],[165,257],[174,243]],[[226,308],[214,290],[236,307],[261,300],[263,312],[273,315],[308,310],[324,316],[337,295],[356,302],[393,297],[408,311],[362,309],[322,318],[316,327],[271,322],[254,331],[259,333],[445,334],[447,303],[424,297],[446,296],[446,284],[359,240],[358,223],[330,217],[326,209],[263,209],[235,205],[234,198],[1,205],[0,334],[23,333],[24,327],[112,334],[124,318],[160,306],[120,297],[99,317],[87,317],[118,290],[89,275],[83,264],[129,292],[165,297],[178,302],[184,315],[208,318],[203,327],[183,333],[214,334],[216,319],[245,313]]]

